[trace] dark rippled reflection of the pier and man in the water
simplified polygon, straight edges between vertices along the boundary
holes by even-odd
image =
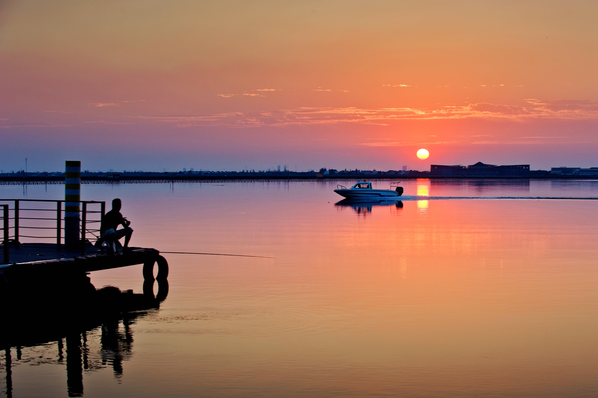
[[[144,293],[121,292],[114,286],[95,289],[89,281],[82,284],[86,286],[70,289],[86,292],[77,301],[66,301],[72,297],[65,292],[48,296],[50,289],[25,301],[11,300],[0,330],[7,397],[13,396],[13,369],[24,364],[66,365],[69,397],[83,396],[84,372],[110,367],[120,381],[123,362],[133,355],[130,326],[155,313],[168,295],[167,280],[158,281],[155,296],[153,280],[145,281]]]

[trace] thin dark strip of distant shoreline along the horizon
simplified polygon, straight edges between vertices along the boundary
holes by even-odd
[[[310,177],[310,176],[123,176],[120,178],[110,177],[81,177],[81,183],[152,183],[152,182],[258,182],[258,181],[355,181],[355,180],[597,180],[597,176],[559,176],[559,177],[442,177],[442,176],[356,176],[356,177]],[[0,183],[22,184],[22,183],[51,183],[61,184],[65,182],[62,176],[27,176],[23,177],[0,177]]]

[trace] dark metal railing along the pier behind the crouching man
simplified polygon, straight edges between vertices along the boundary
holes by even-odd
[[[10,204],[1,204],[0,206],[4,208],[4,251],[5,253],[8,253],[8,246],[13,243],[16,247],[19,247],[19,238],[36,238],[36,239],[56,239],[56,247],[57,249],[60,249],[62,247],[62,242],[63,240],[65,240],[65,235],[66,234],[62,234],[62,231],[65,228],[65,226],[63,226],[63,221],[65,221],[65,218],[63,217],[63,212],[64,210],[62,209],[62,203],[66,202],[65,200],[39,200],[39,199],[0,199],[0,202],[12,202],[13,206],[10,207]],[[23,203],[26,203],[26,206],[28,207],[22,207]],[[70,202],[70,201],[69,201]],[[81,253],[85,253],[85,245],[87,243],[87,235],[91,234],[94,238],[99,238],[99,232],[100,232],[100,228],[89,228],[89,225],[91,224],[91,226],[93,226],[94,224],[98,223],[98,222],[102,222],[102,219],[105,215],[106,212],[106,202],[100,202],[100,201],[88,201],[88,200],[81,200],[78,201],[79,203],[81,203],[81,221],[80,221],[80,247],[81,247]],[[56,207],[54,209],[32,209],[30,207],[35,207],[32,206],[33,204],[39,204],[39,203],[56,203]],[[100,209],[99,210],[88,210],[87,207],[90,204],[99,204],[100,205]],[[10,213],[12,212],[12,217],[10,217]],[[52,218],[47,218],[47,217],[33,217],[33,214],[30,214],[30,212],[54,212],[56,214],[55,217]],[[89,219],[88,215],[94,215],[94,214],[99,214],[100,218],[99,219]],[[27,217],[24,217],[23,215],[26,215]],[[31,215],[31,216],[29,216]],[[10,223],[9,221],[12,220],[13,222]],[[21,221],[24,220],[35,220],[35,221],[56,221],[56,226],[39,226],[39,224],[36,225],[21,225]],[[12,224],[12,226],[10,225]],[[30,230],[30,229],[36,229],[36,230],[52,230],[54,229],[55,235],[48,235],[48,236],[34,236],[34,235],[24,235],[22,234],[22,230],[26,229],[26,230]],[[12,231],[11,231],[12,230]],[[12,233],[11,233],[12,232]],[[25,233],[28,233],[26,231],[24,231]],[[66,231],[65,231],[66,232]],[[66,243],[66,242],[65,242]],[[4,264],[6,264],[7,261],[7,254],[5,254],[5,261]]]

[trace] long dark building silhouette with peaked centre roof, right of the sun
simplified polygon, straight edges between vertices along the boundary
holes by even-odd
[[[496,164],[475,163],[469,166],[457,164],[455,166],[444,166],[432,164],[430,166],[431,176],[438,177],[526,177],[529,175],[529,164],[511,164],[496,166]]]

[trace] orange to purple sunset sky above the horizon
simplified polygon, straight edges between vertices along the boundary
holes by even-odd
[[[0,0],[0,169],[598,167],[597,39],[596,1]]]

